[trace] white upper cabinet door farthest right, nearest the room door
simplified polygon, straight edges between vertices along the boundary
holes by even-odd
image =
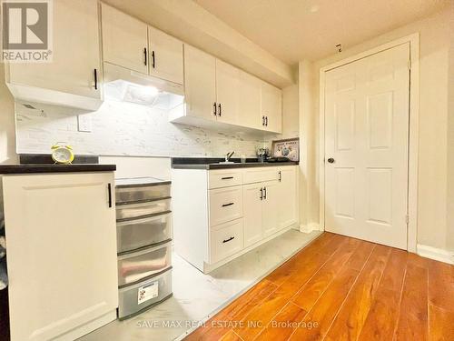
[[[282,92],[281,89],[262,82],[262,116],[265,117],[264,130],[282,132]]]

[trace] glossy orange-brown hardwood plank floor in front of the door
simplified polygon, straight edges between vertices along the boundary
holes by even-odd
[[[324,233],[185,338],[454,340],[454,266]]]

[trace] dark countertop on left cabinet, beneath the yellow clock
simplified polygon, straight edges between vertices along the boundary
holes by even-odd
[[[113,172],[116,165],[0,165],[0,175],[34,173]]]

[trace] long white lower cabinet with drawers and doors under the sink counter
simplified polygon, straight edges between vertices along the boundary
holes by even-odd
[[[296,223],[296,166],[173,169],[175,251],[204,273]]]

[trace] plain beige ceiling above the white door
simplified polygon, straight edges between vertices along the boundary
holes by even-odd
[[[193,0],[253,43],[293,65],[357,45],[451,0]]]

